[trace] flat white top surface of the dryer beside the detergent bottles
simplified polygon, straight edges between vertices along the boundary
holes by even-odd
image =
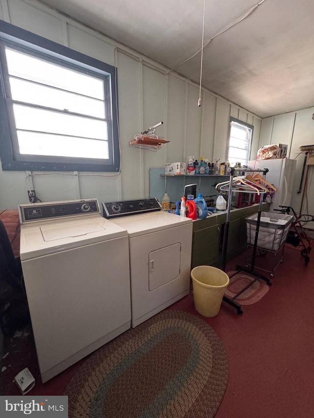
[[[185,225],[187,223],[192,224],[192,220],[190,218],[162,211],[125,216],[123,218],[115,218],[110,221],[127,229],[130,238]]]

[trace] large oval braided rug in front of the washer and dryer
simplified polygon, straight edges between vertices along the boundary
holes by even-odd
[[[167,310],[95,351],[73,376],[69,417],[214,417],[228,359],[201,318]]]

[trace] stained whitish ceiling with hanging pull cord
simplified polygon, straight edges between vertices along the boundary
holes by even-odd
[[[313,0],[205,0],[202,85],[265,118],[314,106]],[[41,0],[200,82],[204,0]],[[181,65],[180,65],[181,64]]]

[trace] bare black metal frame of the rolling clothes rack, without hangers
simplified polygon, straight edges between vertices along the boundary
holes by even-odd
[[[240,168],[239,171],[241,172],[263,172],[263,176],[268,172],[268,169],[247,169],[247,168]],[[222,270],[226,270],[226,261],[227,261],[227,248],[228,248],[228,236],[229,236],[229,224],[230,224],[230,212],[231,212],[231,199],[232,199],[232,185],[233,185],[233,178],[235,174],[235,168],[229,167],[228,172],[230,174],[229,178],[229,197],[228,197],[228,207],[227,207],[227,216],[226,216],[226,224],[225,224],[225,230],[224,230],[224,237],[223,237],[223,247],[222,247]],[[262,214],[262,200],[263,200],[263,193],[260,193],[260,206],[258,211],[258,219],[256,224],[256,232],[255,232],[255,240],[254,240],[254,246],[253,246],[253,255],[252,255],[252,262],[251,262],[251,269],[244,268],[242,266],[236,266],[236,270],[246,271],[250,273],[251,275],[255,276],[256,278],[251,281],[247,286],[245,286],[244,289],[239,291],[234,297],[229,298],[227,296],[223,296],[223,300],[233,306],[239,315],[243,314],[243,311],[241,310],[241,306],[235,302],[235,299],[241,295],[243,292],[246,291],[250,286],[253,285],[258,279],[262,279],[266,281],[266,283],[270,286],[270,280],[268,277],[265,277],[263,275],[260,275],[258,273],[254,272],[255,267],[255,258],[256,258],[256,252],[257,252],[257,244],[258,244],[258,235],[259,235],[259,228],[260,228],[260,222],[261,222],[261,214]],[[237,273],[235,273],[237,274]],[[235,275],[234,274],[234,275]],[[231,276],[232,277],[232,276]]]

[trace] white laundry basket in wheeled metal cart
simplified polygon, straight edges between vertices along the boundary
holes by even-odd
[[[258,213],[246,218],[247,244],[254,246]],[[257,246],[277,252],[286,242],[293,216],[282,213],[261,213]]]

